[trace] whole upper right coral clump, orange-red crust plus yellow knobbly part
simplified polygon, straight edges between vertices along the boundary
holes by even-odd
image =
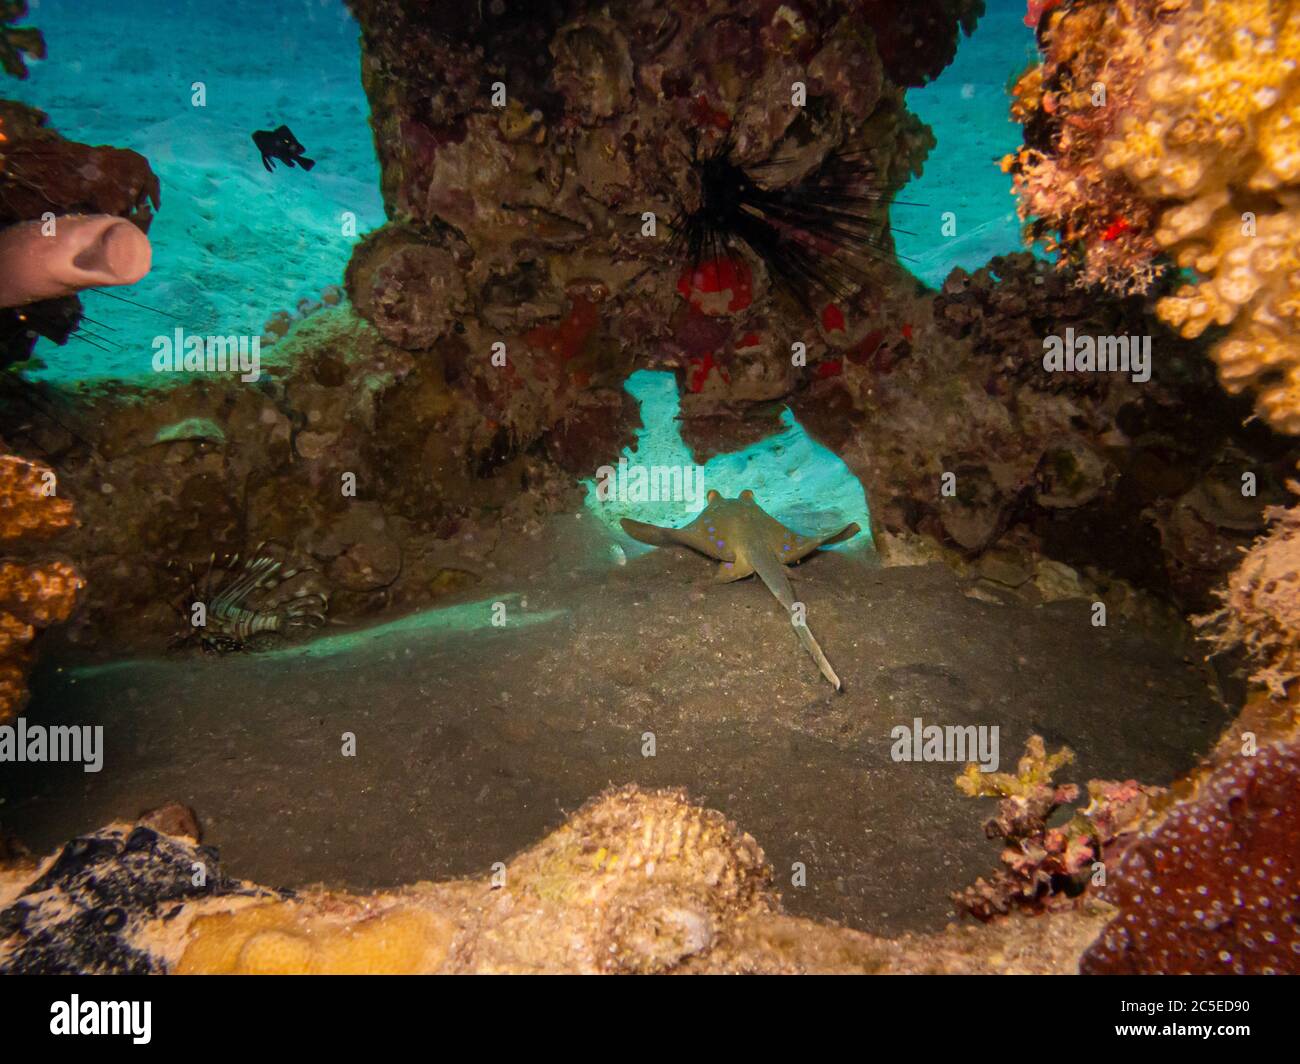
[[[1121,291],[1193,271],[1157,313],[1190,338],[1226,329],[1223,386],[1300,433],[1300,4],[1088,0],[1040,35],[1004,164],[1031,235]]]

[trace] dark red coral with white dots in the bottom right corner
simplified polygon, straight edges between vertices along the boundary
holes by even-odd
[[[1300,741],[1223,761],[1123,856],[1084,973],[1300,973]]]

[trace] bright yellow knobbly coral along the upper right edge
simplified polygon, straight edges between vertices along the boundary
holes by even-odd
[[[1201,280],[1157,312],[1186,337],[1227,326],[1223,386],[1257,386],[1261,416],[1300,433],[1300,3],[1199,3],[1152,46],[1104,164],[1176,200],[1157,241]]]

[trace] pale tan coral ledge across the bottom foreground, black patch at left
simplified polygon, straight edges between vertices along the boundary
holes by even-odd
[[[150,825],[0,868],[0,970],[1066,973],[1104,920],[885,940],[789,917],[758,844],[680,791],[607,791],[488,878],[365,896],[231,881]]]

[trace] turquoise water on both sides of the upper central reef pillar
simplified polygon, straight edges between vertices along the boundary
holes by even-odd
[[[1006,81],[1032,55],[1023,16],[1023,0],[989,0],[953,65],[909,94],[939,147],[901,196],[926,206],[896,208],[894,222],[915,233],[900,234],[898,251],[930,285],[1020,246],[996,160],[1019,143]],[[384,222],[358,27],[342,0],[38,0],[27,21],[49,57],[4,92],[48,112],[69,138],[150,160],[162,182],[153,272],[116,294],[174,316],[87,293],[109,350],[43,341],[47,379],[147,373],[153,337],[177,319],[200,334],[260,334],[277,311],[338,284],[358,237]],[[281,124],[317,161],[311,173],[263,169],[250,137]]]

